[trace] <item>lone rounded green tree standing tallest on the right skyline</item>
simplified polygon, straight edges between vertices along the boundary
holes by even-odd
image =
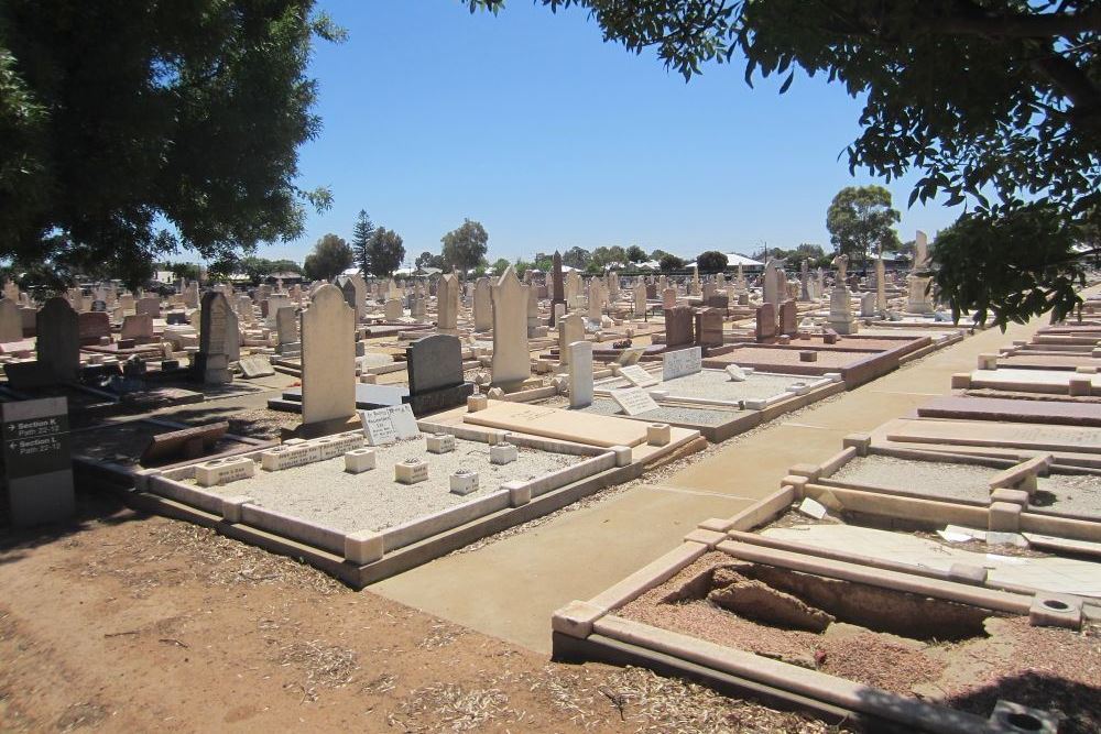
[[[838,254],[868,266],[870,252],[894,252],[900,215],[891,207],[891,191],[882,186],[847,186],[826,211],[826,229]]]

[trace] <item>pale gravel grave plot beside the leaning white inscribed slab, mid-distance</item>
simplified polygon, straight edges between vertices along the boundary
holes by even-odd
[[[662,373],[636,368],[636,371],[621,369],[620,376],[598,380],[593,393],[610,396],[617,390],[642,387],[662,402],[763,410],[795,396],[816,393],[818,398],[825,397],[837,392],[831,387],[838,383],[840,375],[808,377],[757,372],[752,368],[740,370],[738,377],[727,370],[700,370],[665,380]]]

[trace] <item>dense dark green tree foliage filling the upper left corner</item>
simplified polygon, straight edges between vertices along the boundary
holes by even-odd
[[[313,0],[0,3],[0,256],[76,258],[140,280],[292,240],[297,149],[320,129]]]

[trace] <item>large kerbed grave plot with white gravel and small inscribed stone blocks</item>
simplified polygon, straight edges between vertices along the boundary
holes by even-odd
[[[626,450],[503,431],[421,434],[408,406],[362,419],[362,431],[143,472],[133,478],[135,504],[302,557],[362,587],[631,471]]]

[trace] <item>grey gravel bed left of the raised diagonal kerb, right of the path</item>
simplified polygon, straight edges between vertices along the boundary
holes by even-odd
[[[990,501],[990,480],[998,471],[990,467],[949,461],[870,456],[853,459],[829,479],[985,503]]]

